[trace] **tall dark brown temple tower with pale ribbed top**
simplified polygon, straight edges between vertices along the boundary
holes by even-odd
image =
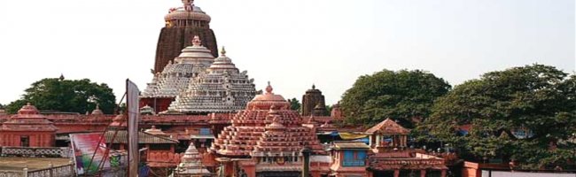
[[[154,73],[161,72],[169,61],[174,62],[180,52],[191,46],[193,36],[198,35],[203,45],[211,50],[214,57],[218,57],[216,36],[210,29],[210,16],[194,5],[194,0],[182,0],[183,6],[171,8],[164,17],[166,27],[162,27],[158,46]]]

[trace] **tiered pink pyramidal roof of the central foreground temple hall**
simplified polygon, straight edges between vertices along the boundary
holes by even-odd
[[[304,147],[324,153],[314,130],[302,127],[300,114],[289,109],[283,96],[273,94],[270,85],[266,91],[236,114],[210,150],[229,157],[299,156]]]

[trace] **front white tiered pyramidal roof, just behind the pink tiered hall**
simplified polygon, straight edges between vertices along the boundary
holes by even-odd
[[[237,112],[252,100],[256,93],[253,79],[237,69],[222,48],[220,57],[190,81],[188,89],[176,96],[169,112],[208,114]]]

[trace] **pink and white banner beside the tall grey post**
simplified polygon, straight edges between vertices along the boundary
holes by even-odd
[[[96,173],[99,170],[98,165],[105,160],[105,137],[100,133],[71,134],[70,142],[76,162],[76,173]],[[110,167],[110,163],[105,161],[104,167]]]

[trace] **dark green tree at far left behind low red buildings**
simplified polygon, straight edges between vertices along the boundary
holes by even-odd
[[[6,105],[6,112],[15,113],[27,103],[39,110],[58,112],[89,112],[99,104],[105,113],[113,113],[116,97],[105,83],[97,84],[88,79],[64,80],[47,78],[32,83],[19,100]]]

